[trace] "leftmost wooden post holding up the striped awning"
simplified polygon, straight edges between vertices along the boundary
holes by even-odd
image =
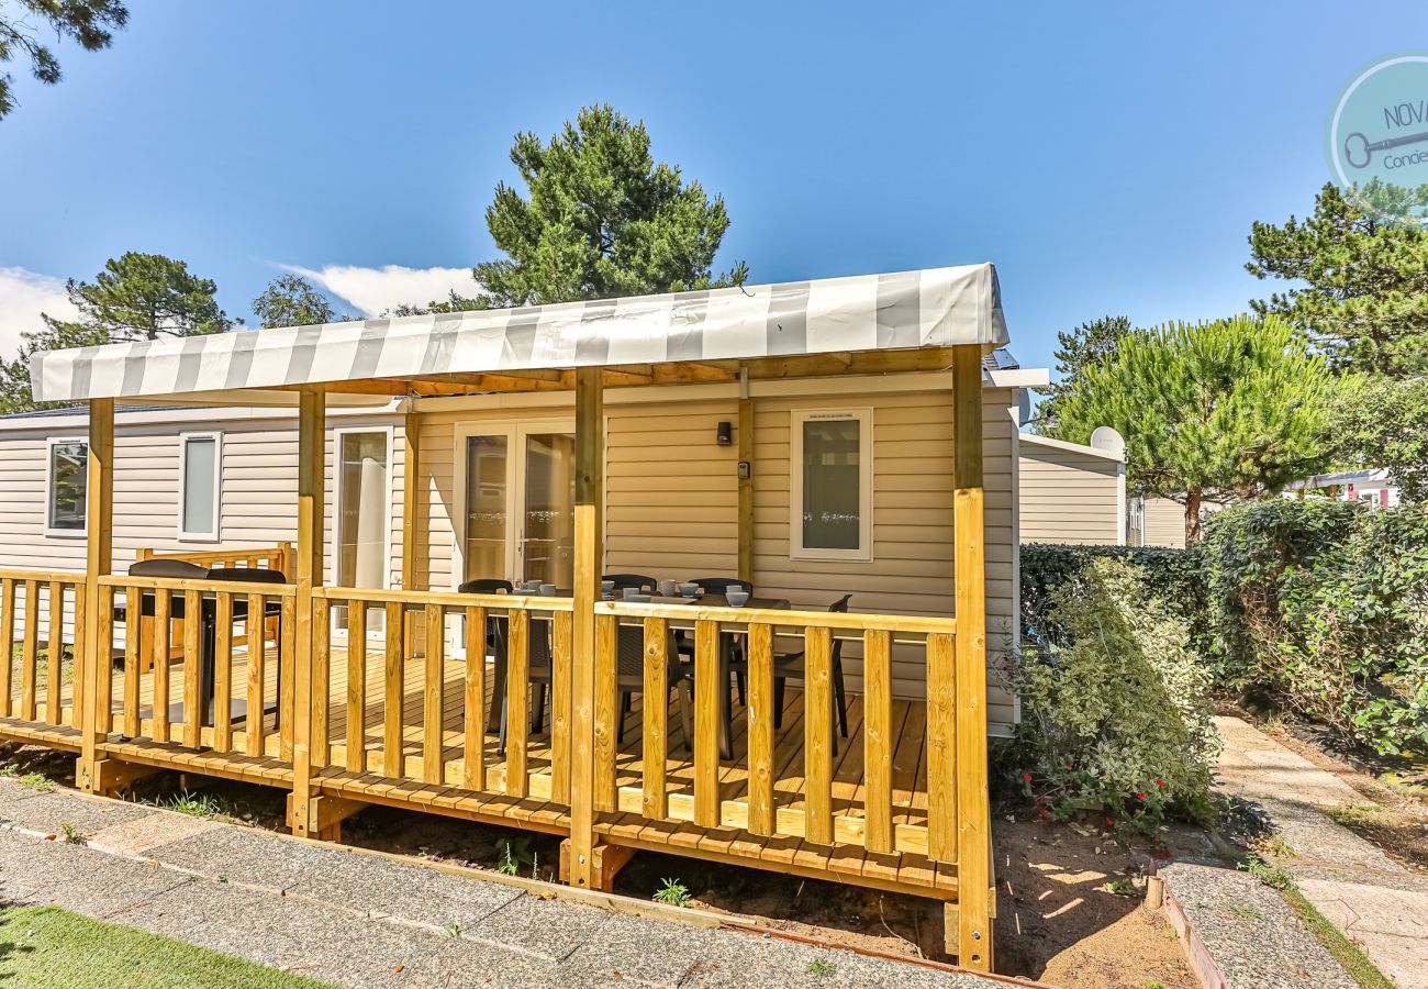
[[[84,503],[86,525],[86,553],[84,553],[84,586],[80,595],[84,599],[84,655],[76,652],[76,700],[84,699],[84,719],[80,729],[80,763],[77,776],[80,789],[94,792],[99,780],[99,739],[101,727],[109,732],[109,712],[100,712],[96,703],[99,695],[99,677],[110,676],[109,669],[109,636],[101,635],[101,610],[99,579],[107,577],[114,566],[114,400],[93,399],[90,402],[90,440],[89,440],[89,480],[86,486]],[[139,609],[130,605],[130,613]],[[104,616],[107,617],[107,616]],[[107,622],[104,623],[109,625]],[[33,626],[31,626],[33,627]],[[29,635],[31,627],[26,629]],[[134,635],[137,622],[130,622],[129,635]],[[79,623],[74,627],[76,640],[80,639]],[[10,646],[6,645],[6,649]],[[6,662],[9,662],[6,656]],[[50,656],[51,666],[59,666],[59,656]],[[79,709],[76,703],[76,710]]]

